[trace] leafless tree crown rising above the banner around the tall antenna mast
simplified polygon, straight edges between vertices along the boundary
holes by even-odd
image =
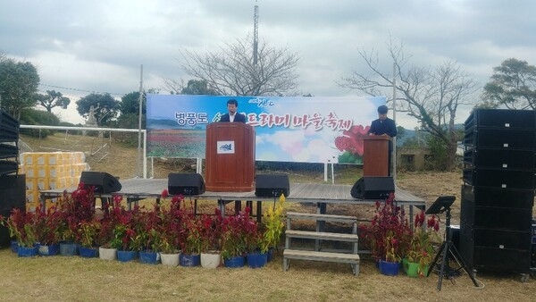
[[[236,39],[217,52],[180,52],[182,68],[189,76],[203,80],[218,95],[284,96],[297,88],[297,53],[277,49],[263,42],[254,63],[249,38]],[[172,82],[172,81],[171,81]]]

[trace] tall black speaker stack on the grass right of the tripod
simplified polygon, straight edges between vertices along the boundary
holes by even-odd
[[[460,254],[473,269],[529,273],[536,114],[475,109],[464,143]]]

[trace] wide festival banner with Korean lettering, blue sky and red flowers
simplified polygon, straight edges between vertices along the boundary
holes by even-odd
[[[255,160],[362,164],[363,137],[384,96],[147,95],[147,156],[205,158],[205,129],[238,112],[255,129]]]

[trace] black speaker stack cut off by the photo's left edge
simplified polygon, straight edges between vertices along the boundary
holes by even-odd
[[[19,121],[0,110],[0,215],[13,208],[26,210],[26,178],[19,175]],[[0,226],[0,245],[9,243],[9,232]]]

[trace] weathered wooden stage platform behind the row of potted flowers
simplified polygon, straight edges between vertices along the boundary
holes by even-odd
[[[167,179],[130,179],[121,180],[121,191],[105,194],[96,194],[97,198],[111,198],[115,195],[121,195],[126,199],[129,207],[132,203],[137,203],[139,200],[147,198],[155,198],[157,201],[162,196],[162,191],[168,189]],[[76,188],[67,189],[68,193],[71,193]],[[286,198],[287,202],[296,203],[313,203],[316,205],[317,213],[326,214],[327,206],[333,204],[374,204],[375,199],[356,199],[350,196],[350,185],[336,185],[336,184],[314,184],[314,183],[290,183],[289,197]],[[41,190],[39,192],[41,201],[45,199],[61,197],[63,195],[63,189],[49,189]],[[217,201],[222,214],[225,214],[225,205],[230,202],[235,202],[235,209],[240,209],[241,202],[246,201],[248,205],[256,202],[256,216],[257,220],[262,217],[262,203],[266,201],[272,201],[273,197],[256,197],[255,191],[250,192],[209,192],[204,194],[191,196],[194,200],[214,200]],[[415,197],[411,193],[402,190],[395,189],[395,199],[398,206],[408,206],[409,216],[414,216],[414,207],[425,209],[425,202],[423,198]],[[413,221],[413,219],[412,219]]]

